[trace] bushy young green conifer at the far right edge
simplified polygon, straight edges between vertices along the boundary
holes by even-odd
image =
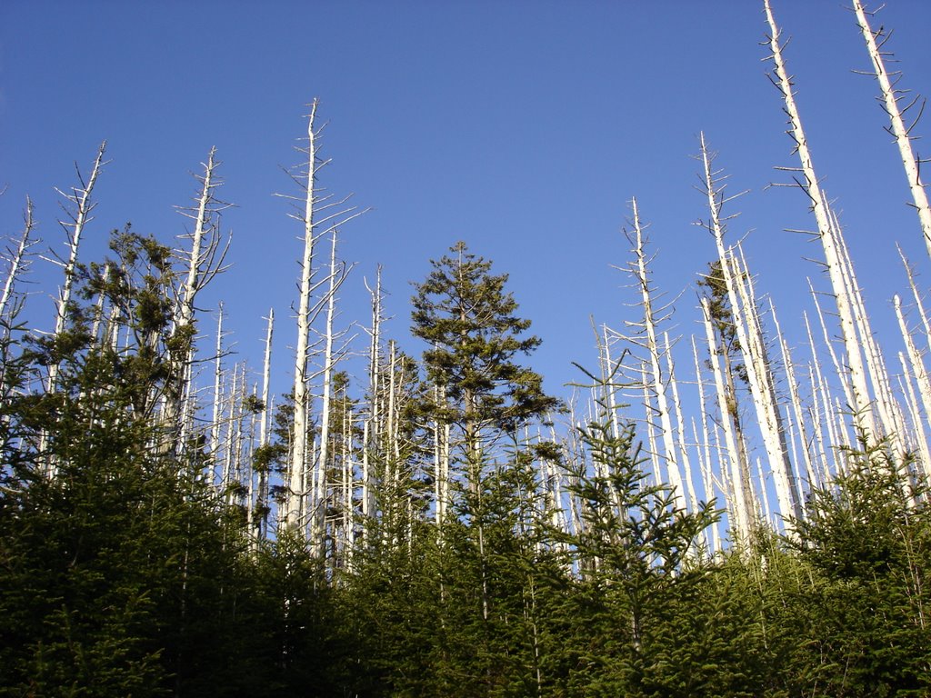
[[[924,484],[911,485],[909,459],[891,451],[862,436],[845,453],[845,472],[793,522],[811,570],[811,639],[799,673],[822,695],[931,690],[931,512]]]

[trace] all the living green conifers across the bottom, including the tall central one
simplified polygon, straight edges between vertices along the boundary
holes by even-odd
[[[644,473],[632,428],[601,414],[578,430],[575,460],[516,435],[555,407],[510,361],[537,341],[516,338],[526,324],[505,277],[454,250],[422,299],[458,289],[500,322],[440,323],[440,306],[423,300],[415,331],[433,342],[431,377],[448,382],[450,404],[462,400],[447,416],[497,430],[498,448],[466,450],[480,477],[453,483],[441,530],[415,479],[385,485],[341,567],[290,532],[256,538],[204,477],[214,463],[202,442],[167,448],[155,403],[172,398],[190,336],[171,329],[165,248],[118,235],[113,262],[80,271],[83,301],[62,336],[33,341],[6,322],[0,695],[931,691],[931,516],[910,463],[864,443],[791,535],[760,531],[747,549],[709,557],[719,512],[675,509]],[[431,286],[451,264],[464,275]],[[126,342],[101,341],[100,307],[118,309]],[[31,388],[52,365],[54,390]],[[262,472],[287,452],[287,409],[279,439],[255,454]],[[431,451],[423,415],[412,409],[399,427],[405,443],[424,443],[398,459]],[[553,523],[541,459],[559,463],[576,529]]]

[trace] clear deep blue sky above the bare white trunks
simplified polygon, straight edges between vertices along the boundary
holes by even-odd
[[[907,292],[895,243],[926,288],[929,260],[897,150],[884,133],[870,61],[840,0],[773,0],[791,36],[787,60],[819,175],[845,226],[870,314],[891,358],[891,309]],[[931,3],[891,0],[902,87],[931,93]],[[694,185],[697,137],[719,152],[735,193],[731,237],[747,234],[758,288],[798,345],[812,307],[807,276],[820,249],[785,228],[811,228],[802,192],[767,188],[794,166],[776,89],[766,79],[762,3],[708,2],[48,2],[0,3],[0,233],[21,227],[26,195],[38,234],[61,249],[53,187],[74,184],[98,144],[111,160],[95,192],[86,261],[131,221],[164,241],[187,222],[173,209],[196,192],[216,146],[226,183],[233,268],[202,305],[223,300],[238,358],[261,367],[263,315],[277,314],[274,374],[287,390],[301,254],[300,225],[274,193],[297,194],[281,170],[300,161],[307,103],[329,122],[321,183],[371,212],[347,225],[341,253],[357,266],[344,324],[369,321],[363,278],[384,265],[387,333],[409,339],[412,281],[464,239],[510,275],[543,346],[546,387],[593,365],[590,316],[622,328],[636,296],[612,268],[630,259],[620,230],[636,196],[652,223],[656,287],[681,294],[668,329],[696,324],[695,278],[714,256]],[[927,117],[926,117],[927,118]],[[931,122],[916,134],[931,133]],[[919,141],[919,150],[927,146]],[[36,262],[36,289],[58,273]],[[52,327],[51,302],[30,310]],[[205,317],[204,322],[207,321]],[[40,322],[41,324],[41,322]],[[205,328],[207,329],[207,328]],[[888,331],[887,331],[888,330]],[[205,343],[212,344],[212,340]],[[688,342],[681,342],[684,348]],[[360,342],[359,348],[362,348]],[[688,354],[680,365],[690,363]],[[890,361],[890,363],[892,363]]]

